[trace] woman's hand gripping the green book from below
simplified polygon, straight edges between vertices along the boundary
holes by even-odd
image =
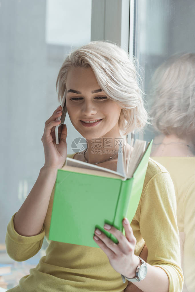
[[[104,229],[112,233],[119,241],[118,244],[114,243],[104,233],[98,234],[97,229],[95,229],[94,233],[99,240],[96,240],[95,236],[93,239],[102,249],[102,251],[105,252],[109,259],[110,265],[116,272],[126,276],[127,278],[133,278],[135,277],[135,271],[140,263],[140,259],[134,254],[135,244],[137,241],[133,235],[133,230],[129,224],[128,219],[127,223],[125,222],[125,219],[127,218],[123,219],[125,236],[114,226],[110,226],[108,224],[104,225]]]

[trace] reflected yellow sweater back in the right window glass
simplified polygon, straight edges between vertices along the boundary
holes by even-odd
[[[177,201],[177,226],[184,232],[183,274],[189,292],[195,291],[195,157],[152,157],[169,171]]]

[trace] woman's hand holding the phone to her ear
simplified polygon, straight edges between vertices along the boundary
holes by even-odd
[[[61,112],[57,113],[59,111]],[[45,164],[43,167],[61,169],[65,163],[67,157],[66,125],[60,125],[60,127],[63,126],[60,142],[59,144],[55,142],[55,126],[60,124],[60,121],[56,121],[56,118],[61,117],[61,115],[62,106],[60,105],[45,122],[45,129],[41,138],[45,153]]]

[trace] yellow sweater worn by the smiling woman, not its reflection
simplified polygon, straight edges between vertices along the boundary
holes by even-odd
[[[74,154],[67,156],[72,158]],[[48,240],[54,187],[39,234],[29,237],[19,235],[13,225],[16,213],[8,223],[5,243],[8,255],[15,261],[25,261],[34,256],[40,250],[44,236],[49,243],[46,256],[8,291],[124,291],[128,281],[123,284],[121,274],[112,268],[101,248]],[[180,265],[175,190],[166,168],[151,158],[131,227],[137,239],[135,255],[140,254],[146,243],[147,263],[161,267],[168,274],[170,292],[181,292],[184,277]]]

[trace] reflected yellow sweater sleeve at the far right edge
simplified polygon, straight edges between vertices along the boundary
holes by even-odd
[[[184,200],[183,272],[188,291],[195,291],[195,181],[187,189]]]

